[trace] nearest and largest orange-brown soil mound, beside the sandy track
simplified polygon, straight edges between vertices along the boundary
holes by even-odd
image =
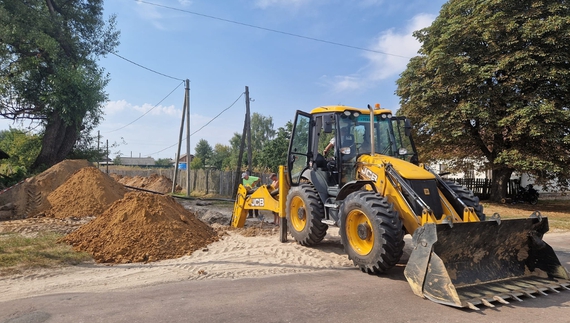
[[[60,239],[99,263],[179,258],[218,240],[172,197],[129,192],[103,214]]]

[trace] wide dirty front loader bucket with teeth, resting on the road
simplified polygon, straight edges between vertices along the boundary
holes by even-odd
[[[416,295],[471,309],[569,289],[568,271],[542,240],[547,231],[540,216],[426,224],[414,232],[404,274]]]

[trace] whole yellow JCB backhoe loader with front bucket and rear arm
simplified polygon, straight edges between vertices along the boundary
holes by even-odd
[[[240,185],[232,226],[242,227],[250,209],[278,212],[280,240],[289,232],[303,246],[338,226],[349,259],[369,274],[395,266],[410,234],[404,275],[413,292],[456,307],[570,289],[568,271],[542,240],[548,219],[486,218],[473,192],[418,163],[411,128],[378,105],[297,111],[279,188]],[[327,158],[320,152],[329,143]]]

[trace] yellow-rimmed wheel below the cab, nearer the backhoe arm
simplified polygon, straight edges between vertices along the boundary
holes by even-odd
[[[289,233],[299,244],[312,246],[323,240],[328,225],[321,222],[324,207],[313,185],[292,187],[287,194],[286,210]]]

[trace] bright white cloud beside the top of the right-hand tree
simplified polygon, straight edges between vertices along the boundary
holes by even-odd
[[[335,92],[357,90],[398,75],[405,70],[409,59],[416,56],[420,49],[421,44],[412,33],[428,27],[434,19],[434,15],[420,14],[413,17],[402,31],[395,28],[383,31],[369,48],[384,54],[366,52],[366,66],[350,76],[336,76],[334,80],[329,80],[329,85]]]

